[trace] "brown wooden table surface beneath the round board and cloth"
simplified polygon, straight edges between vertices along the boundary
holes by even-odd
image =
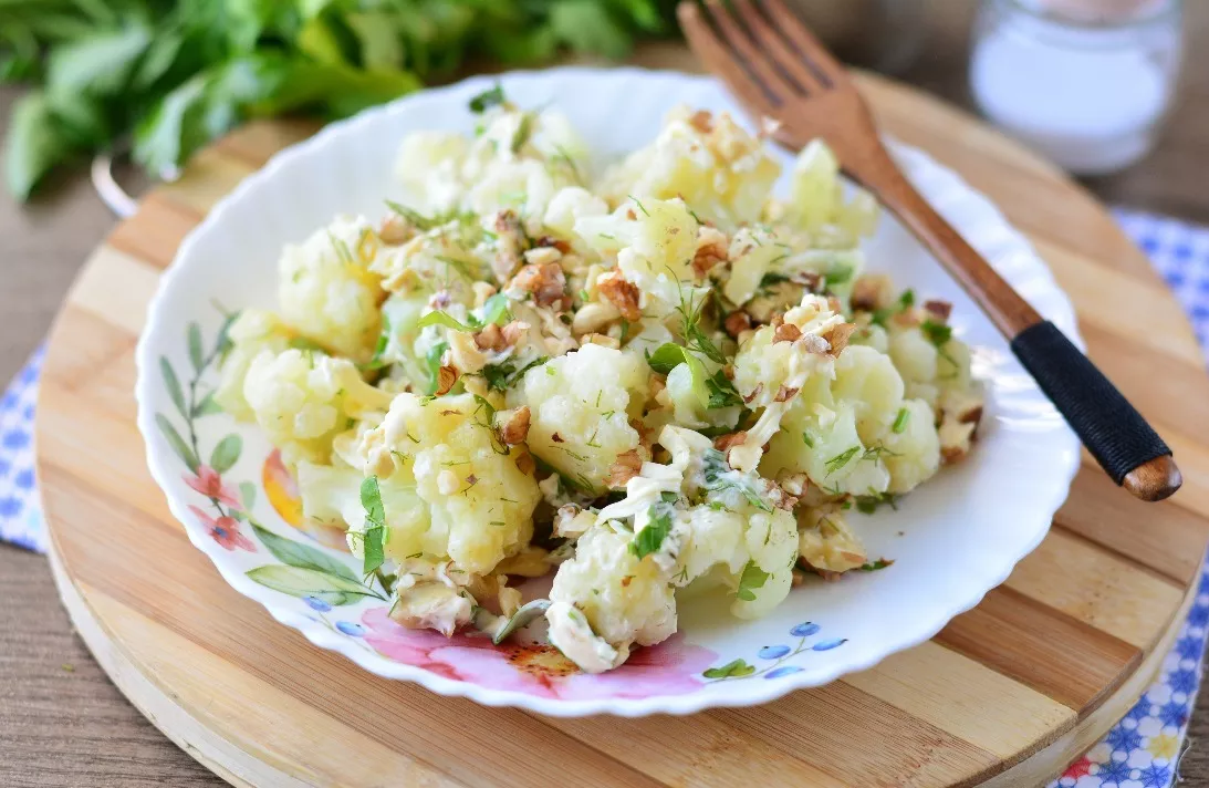
[[[932,0],[926,56],[902,75],[968,105],[972,2]],[[1209,2],[1186,4],[1187,57],[1176,109],[1158,149],[1126,173],[1088,182],[1110,203],[1209,224]],[[0,90],[6,123],[16,92]],[[138,179],[132,182],[135,186]],[[45,335],[59,300],[112,218],[82,179],[64,179],[35,205],[0,197],[0,381]],[[139,788],[222,784],[121,696],[71,633],[42,557],[0,545],[0,784]],[[1190,786],[1209,786],[1209,694],[1193,715],[1182,760]],[[1199,744],[1196,742],[1201,742]]]

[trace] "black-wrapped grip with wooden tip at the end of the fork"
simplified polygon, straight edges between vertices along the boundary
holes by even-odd
[[[1146,500],[1179,489],[1167,443],[1057,326],[1042,321],[1025,328],[1012,352],[1113,482]],[[1146,489],[1135,489],[1139,484]]]

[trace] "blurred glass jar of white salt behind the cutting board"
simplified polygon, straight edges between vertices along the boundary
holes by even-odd
[[[1155,143],[1180,22],[1180,0],[983,0],[971,91],[987,117],[1070,172],[1115,172]]]

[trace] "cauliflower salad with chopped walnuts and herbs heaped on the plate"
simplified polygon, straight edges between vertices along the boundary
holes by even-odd
[[[877,206],[826,145],[776,199],[725,114],[676,109],[592,176],[559,113],[498,86],[470,111],[403,140],[406,206],[285,247],[216,395],[392,619],[498,643],[544,615],[602,672],[675,633],[688,586],[753,619],[805,573],[887,565],[848,518],[961,460],[982,393],[949,304],[862,275]]]

